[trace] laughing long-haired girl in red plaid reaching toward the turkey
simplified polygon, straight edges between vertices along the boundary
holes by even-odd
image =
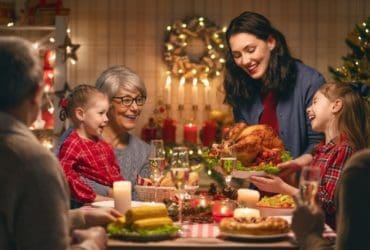
[[[307,114],[312,129],[325,134],[325,140],[314,148],[311,166],[321,169],[318,198],[326,223],[335,228],[334,193],[344,163],[355,151],[367,146],[367,103],[350,84],[326,83],[314,95]],[[277,176],[253,176],[250,181],[268,192],[298,192]]]

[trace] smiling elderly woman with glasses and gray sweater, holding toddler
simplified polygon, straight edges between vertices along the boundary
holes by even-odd
[[[148,156],[150,146],[129,133],[143,109],[146,88],[140,77],[124,66],[106,69],[96,80],[96,87],[106,93],[110,100],[108,125],[103,138],[112,145],[124,179],[136,184],[137,176],[148,177]],[[69,135],[67,130],[61,137]],[[59,153],[59,152],[57,152]],[[98,195],[109,196],[110,188],[85,179]],[[136,198],[135,192],[133,199]]]

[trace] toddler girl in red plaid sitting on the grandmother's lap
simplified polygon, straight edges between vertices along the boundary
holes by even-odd
[[[72,203],[106,199],[88,181],[112,187],[122,180],[112,147],[101,139],[107,125],[108,97],[90,85],[79,85],[61,102],[61,120],[69,118],[73,131],[61,145],[58,157],[71,190]]]

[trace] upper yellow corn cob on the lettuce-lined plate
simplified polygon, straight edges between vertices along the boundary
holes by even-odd
[[[126,223],[132,224],[136,220],[146,219],[146,218],[157,218],[166,217],[167,209],[165,205],[156,206],[142,206],[134,207],[126,212]]]

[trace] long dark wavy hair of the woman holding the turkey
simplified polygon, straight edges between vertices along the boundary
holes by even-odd
[[[238,33],[249,33],[258,39],[267,41],[269,37],[276,40],[276,46],[271,51],[271,57],[264,84],[255,80],[240,67],[232,57],[229,40]],[[285,37],[276,30],[270,21],[254,12],[243,12],[234,18],[226,31],[228,50],[226,54],[226,72],[224,80],[225,103],[236,106],[236,103],[254,100],[261,92],[273,91],[278,97],[287,95],[294,87],[297,69],[292,58]]]

